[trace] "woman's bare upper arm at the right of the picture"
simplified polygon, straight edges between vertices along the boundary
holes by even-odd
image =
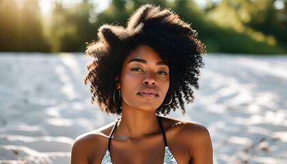
[[[208,130],[202,125],[196,125],[195,131],[191,134],[191,154],[192,164],[212,164],[213,146]]]

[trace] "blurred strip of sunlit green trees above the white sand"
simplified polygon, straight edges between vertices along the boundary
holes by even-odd
[[[103,23],[124,26],[143,0],[0,0],[0,51],[84,52]],[[286,0],[150,0],[198,31],[208,53],[286,54]]]

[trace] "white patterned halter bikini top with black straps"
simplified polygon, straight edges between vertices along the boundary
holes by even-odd
[[[156,116],[156,118],[159,121],[159,127],[161,128],[161,133],[163,133],[163,141],[165,141],[165,156],[163,159],[163,164],[177,164],[177,161],[174,158],[174,155],[172,154],[172,152],[170,152],[167,146],[167,138],[165,137],[165,129],[163,128],[161,119],[159,118],[159,116]],[[115,122],[115,125],[113,126],[113,129],[111,130],[111,134],[109,135],[108,150],[105,156],[102,158],[102,162],[100,164],[112,164],[111,153],[109,152],[109,148],[111,147],[111,137],[113,136],[113,132],[115,131],[115,128],[117,127],[119,120],[120,118],[118,118],[118,120]]]

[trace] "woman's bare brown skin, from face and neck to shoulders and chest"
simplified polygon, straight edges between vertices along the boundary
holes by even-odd
[[[169,68],[150,46],[138,46],[124,60],[117,88],[122,118],[111,140],[113,163],[163,163],[165,144],[156,118],[169,88]],[[161,117],[169,150],[178,163],[213,163],[207,129],[196,122]],[[71,163],[100,163],[114,122],[79,136]]]

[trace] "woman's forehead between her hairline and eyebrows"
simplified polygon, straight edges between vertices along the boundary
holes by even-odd
[[[144,59],[146,61],[163,61],[158,53],[156,53],[150,46],[142,44],[128,54],[124,63],[131,59]]]

